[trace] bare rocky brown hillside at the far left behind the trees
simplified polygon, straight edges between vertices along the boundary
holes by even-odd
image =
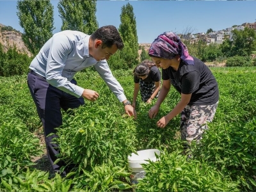
[[[20,52],[24,52],[31,56],[31,53],[22,41],[21,35],[22,33],[20,33],[20,31],[17,31],[10,26],[0,24],[0,44],[3,45],[4,51],[8,49],[8,46],[12,47],[13,44],[15,44]]]

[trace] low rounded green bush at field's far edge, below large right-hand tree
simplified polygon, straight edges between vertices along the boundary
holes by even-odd
[[[250,67],[253,66],[252,58],[249,56],[233,56],[227,59],[227,67]]]

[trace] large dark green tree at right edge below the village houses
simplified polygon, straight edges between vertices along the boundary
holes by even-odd
[[[234,29],[231,39],[226,39],[220,47],[225,56],[250,56],[256,50],[256,32],[250,28]]]

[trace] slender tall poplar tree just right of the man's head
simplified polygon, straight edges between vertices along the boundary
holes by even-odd
[[[126,61],[129,68],[138,64],[138,36],[136,28],[136,17],[133,13],[133,7],[130,3],[122,6],[120,15],[121,24],[119,26],[119,32],[124,40],[125,47],[122,52],[122,56]]]

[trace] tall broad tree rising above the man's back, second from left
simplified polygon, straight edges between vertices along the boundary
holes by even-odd
[[[58,10],[62,20],[61,30],[76,30],[91,35],[99,24],[96,19],[96,2],[60,0]]]

